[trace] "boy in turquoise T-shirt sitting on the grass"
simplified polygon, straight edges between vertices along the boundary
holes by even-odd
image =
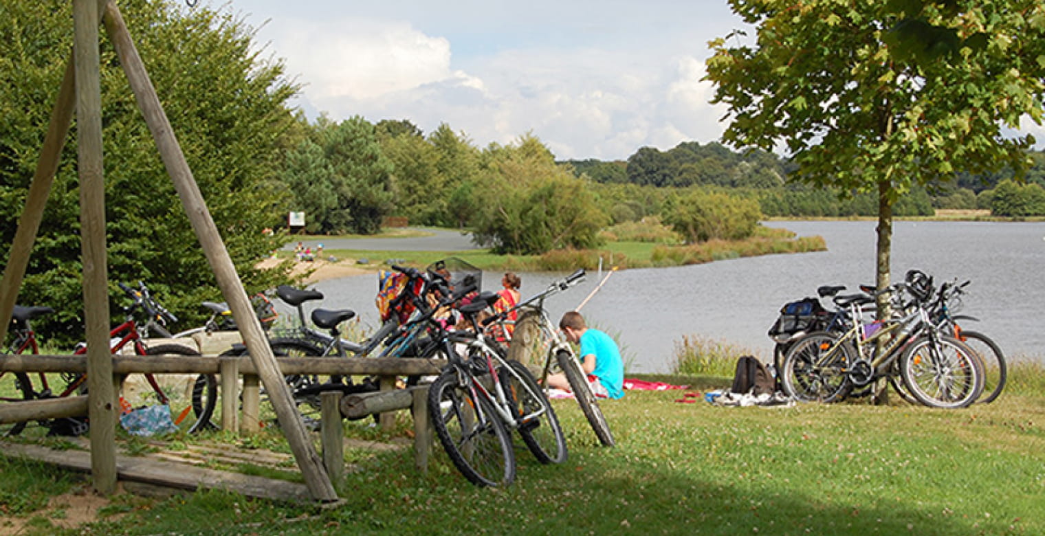
[[[562,316],[559,329],[567,341],[581,345],[581,368],[587,374],[591,392],[604,398],[623,397],[624,360],[617,342],[603,331],[587,327],[584,317],[575,310]],[[548,386],[570,391],[570,381],[561,372],[549,375]]]

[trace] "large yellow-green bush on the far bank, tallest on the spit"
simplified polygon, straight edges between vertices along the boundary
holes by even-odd
[[[559,166],[532,136],[491,146],[483,188],[475,191],[472,229],[495,253],[541,254],[599,244],[606,216],[587,184]]]

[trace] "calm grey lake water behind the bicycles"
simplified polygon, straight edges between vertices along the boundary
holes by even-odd
[[[766,357],[772,348],[766,331],[782,304],[813,296],[822,284],[874,283],[874,222],[767,225],[823,236],[828,251],[618,272],[582,312],[618,339],[630,372],[669,372],[683,334],[722,340]],[[898,222],[892,240],[893,278],[918,267],[937,282],[972,280],[963,312],[981,322],[967,327],[989,333],[1009,356],[1045,355],[1039,317],[1045,303],[1045,223]],[[498,274],[485,276],[484,288],[496,289]],[[562,276],[521,274],[524,298]],[[591,273],[584,283],[550,298],[553,320],[576,308],[598,281]],[[353,308],[365,326],[376,325],[376,277],[324,281],[316,288],[326,295],[325,307]]]

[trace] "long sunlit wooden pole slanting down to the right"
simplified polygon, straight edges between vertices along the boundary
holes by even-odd
[[[156,89],[148,78],[145,65],[131,40],[123,17],[113,2],[106,4],[104,22],[109,37],[131,83],[131,89],[138,100],[138,107],[141,109],[142,115],[145,116],[145,123],[148,124],[153,138],[156,140],[160,158],[175,183],[175,189],[178,190],[178,195],[182,200],[192,229],[195,231],[207,260],[214,271],[214,277],[217,279],[217,285],[222,288],[225,301],[232,309],[232,317],[243,334],[243,343],[247,344],[251,359],[258,368],[258,376],[269,392],[270,400],[276,410],[276,417],[279,419],[286,441],[291,445],[291,450],[298,461],[298,466],[301,467],[305,485],[317,500],[334,502],[338,499],[338,494],[323,467],[323,461],[316,453],[316,448],[308,438],[304,423],[291,398],[291,392],[276,364],[276,357],[273,355],[269,341],[261,329],[261,323],[247,298],[247,292],[239,281],[229,252],[225,249],[217,227],[211,218],[203,193],[192,177],[192,171],[189,169],[188,162],[185,161],[185,155],[178,144],[170,121],[167,119],[160,98],[156,94]]]

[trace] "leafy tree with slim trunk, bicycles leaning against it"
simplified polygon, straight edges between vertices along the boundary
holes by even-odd
[[[783,142],[794,178],[878,199],[877,283],[889,283],[892,208],[955,170],[1029,165],[1022,117],[1041,123],[1045,7],[1037,0],[730,0],[751,45],[711,43],[723,139]],[[879,314],[888,314],[885,298]]]

